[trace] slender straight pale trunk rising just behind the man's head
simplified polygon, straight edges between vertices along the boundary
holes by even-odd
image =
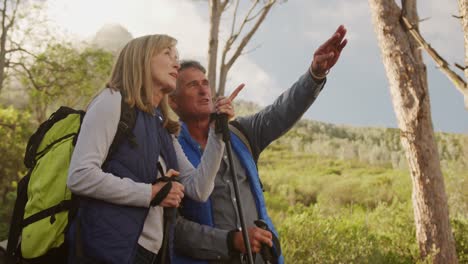
[[[216,94],[216,66],[218,59],[218,35],[221,20],[222,3],[219,0],[210,0],[210,36],[208,40],[208,81],[211,94]]]

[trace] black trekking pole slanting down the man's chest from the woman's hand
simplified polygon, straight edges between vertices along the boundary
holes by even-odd
[[[247,232],[247,227],[245,225],[245,219],[244,219],[244,213],[243,213],[244,211],[242,210],[242,204],[240,201],[241,196],[239,193],[239,183],[237,182],[236,169],[234,168],[234,161],[232,158],[231,135],[229,133],[228,120],[227,120],[226,114],[216,115],[216,132],[222,133],[223,141],[226,145],[226,151],[227,151],[228,159],[229,159],[229,168],[231,171],[232,183],[234,184],[234,194],[236,197],[237,210],[239,211],[239,219],[241,222],[242,237],[244,238],[244,246],[247,251],[248,263],[254,264],[253,256],[252,256],[252,249],[250,247],[249,234]]]

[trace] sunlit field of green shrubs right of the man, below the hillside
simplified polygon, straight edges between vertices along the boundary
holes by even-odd
[[[466,263],[468,172],[458,168],[447,166],[444,176],[458,257]],[[430,263],[419,259],[407,170],[274,143],[259,171],[288,263]]]

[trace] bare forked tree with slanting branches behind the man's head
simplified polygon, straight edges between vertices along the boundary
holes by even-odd
[[[242,54],[245,46],[249,43],[252,36],[258,30],[260,25],[265,20],[273,5],[277,0],[254,0],[252,1],[247,13],[240,20],[240,24],[236,22],[239,18],[239,2],[240,0],[209,0],[210,3],[210,36],[208,45],[208,80],[211,85],[212,94],[224,95],[227,74],[234,62]],[[232,25],[230,36],[224,45],[221,55],[221,65],[219,67],[219,84],[216,92],[217,80],[217,60],[218,60],[218,44],[219,44],[219,27],[221,24],[221,16],[233,6]],[[247,25],[251,27],[247,29]],[[233,45],[240,42],[234,49]],[[234,49],[234,50],[233,50]],[[233,54],[228,58],[230,51]]]

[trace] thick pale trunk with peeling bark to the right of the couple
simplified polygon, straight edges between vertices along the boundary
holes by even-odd
[[[421,52],[400,24],[402,11],[394,1],[369,0],[369,5],[410,168],[421,257],[431,257],[433,263],[458,263]],[[403,1],[402,6],[417,25],[416,1]]]

